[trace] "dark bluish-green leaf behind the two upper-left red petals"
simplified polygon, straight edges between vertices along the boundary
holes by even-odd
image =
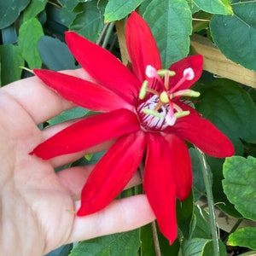
[[[43,36],[38,40],[38,51],[44,65],[49,69],[58,71],[77,68],[67,44],[58,38]]]

